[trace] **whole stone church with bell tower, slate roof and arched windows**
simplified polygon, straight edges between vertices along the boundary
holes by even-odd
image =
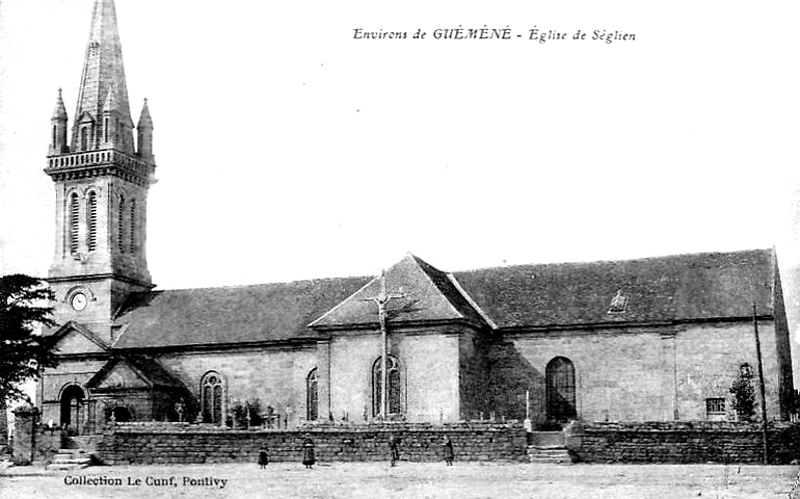
[[[147,102],[131,116],[113,0],[96,0],[68,122],[59,92],[45,173],[60,364],[38,385],[45,422],[224,425],[242,404],[289,427],[733,420],[734,381],[757,386],[754,326],[768,417],[788,416],[774,250],[460,272],[408,255],[381,276],[158,290],[153,121]]]

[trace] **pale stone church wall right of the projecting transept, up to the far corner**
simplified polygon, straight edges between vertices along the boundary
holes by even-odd
[[[787,415],[780,395],[789,387],[785,378],[791,378],[781,346],[786,334],[776,333],[770,320],[759,321],[759,331],[768,419],[779,419]],[[569,359],[575,368],[576,411],[585,421],[706,420],[710,398],[724,399],[724,418],[732,421],[731,385],[742,364],[757,365],[753,325],[746,319],[506,333],[488,353],[490,410],[498,417],[524,418],[529,391],[530,418],[546,421],[545,375],[555,357]]]

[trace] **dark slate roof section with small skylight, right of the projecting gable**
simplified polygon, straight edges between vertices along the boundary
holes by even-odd
[[[754,300],[771,315],[774,275],[771,250],[454,272],[500,328],[751,317]]]

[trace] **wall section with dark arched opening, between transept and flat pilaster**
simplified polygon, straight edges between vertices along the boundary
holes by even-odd
[[[537,423],[673,419],[673,346],[668,333],[614,329],[506,335],[492,345],[495,411],[524,417],[529,390],[531,420]],[[554,402],[558,397],[548,396],[548,370],[551,379],[561,380],[560,397],[571,400]]]

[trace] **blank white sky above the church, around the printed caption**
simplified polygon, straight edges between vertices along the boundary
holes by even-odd
[[[0,274],[51,263],[50,115],[92,4],[0,2]],[[774,246],[798,330],[796,2],[116,7],[160,289]],[[512,36],[434,37],[459,27]]]

